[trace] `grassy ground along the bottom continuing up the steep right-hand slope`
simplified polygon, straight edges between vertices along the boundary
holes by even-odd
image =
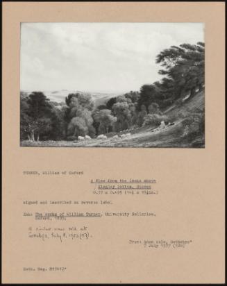
[[[69,146],[69,147],[171,147],[171,148],[201,148],[204,147],[204,135],[199,134],[190,138],[183,136],[183,117],[178,117],[179,113],[187,112],[193,114],[197,108],[204,107],[204,92],[197,93],[192,99],[185,100],[182,104],[174,104],[164,111],[165,115],[171,119],[173,125],[166,126],[162,130],[153,126],[143,126],[121,133],[106,134],[108,139],[91,139],[85,141],[46,141],[46,142],[22,142],[22,146]],[[128,137],[113,138],[113,135],[122,135],[130,132]]]

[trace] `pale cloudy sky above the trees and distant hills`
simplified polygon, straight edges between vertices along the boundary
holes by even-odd
[[[196,42],[202,23],[22,23],[21,90],[140,90],[160,51]]]

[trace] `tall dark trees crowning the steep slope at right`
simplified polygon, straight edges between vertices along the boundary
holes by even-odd
[[[180,44],[165,49],[156,57],[160,64],[161,81],[143,85],[140,89],[138,108],[158,103],[160,108],[170,106],[187,94],[194,96],[196,90],[203,90],[205,81],[205,44]]]

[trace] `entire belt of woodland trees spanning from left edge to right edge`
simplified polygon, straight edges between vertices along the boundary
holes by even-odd
[[[204,87],[205,45],[181,44],[161,51],[156,63],[164,77],[140,92],[115,96],[95,107],[90,94],[69,94],[65,104],[47,99],[42,92],[21,93],[22,140],[65,140],[122,131],[131,126],[158,124],[162,110]]]

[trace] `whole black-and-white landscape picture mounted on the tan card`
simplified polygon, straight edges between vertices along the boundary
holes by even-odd
[[[22,23],[20,146],[205,148],[203,23]]]

